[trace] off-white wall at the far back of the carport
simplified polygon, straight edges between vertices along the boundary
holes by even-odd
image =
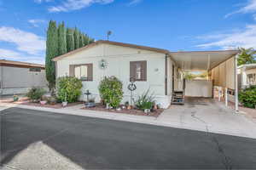
[[[212,97],[212,81],[186,80],[185,95],[191,97]]]

